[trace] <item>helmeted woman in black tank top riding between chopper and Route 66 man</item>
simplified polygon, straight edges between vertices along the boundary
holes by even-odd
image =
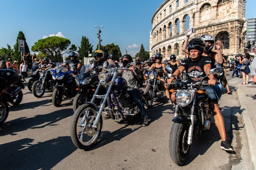
[[[162,86],[162,88],[165,91],[165,95],[167,97],[167,102],[168,103],[172,103],[171,99],[170,99],[170,94],[169,94],[169,90],[167,89],[167,86],[164,85],[165,84],[165,80],[164,80],[164,73],[166,73],[165,71],[165,66],[164,63],[162,63],[163,60],[163,55],[160,53],[156,53],[155,57],[156,59],[156,63],[153,63],[151,65],[151,67],[149,68],[149,71],[151,71],[152,69],[154,69],[154,71],[156,72],[156,70],[161,69],[163,70],[162,72],[158,72],[158,75],[161,77],[160,79],[160,84]]]

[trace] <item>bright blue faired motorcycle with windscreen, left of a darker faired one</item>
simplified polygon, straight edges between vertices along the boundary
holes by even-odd
[[[52,103],[54,106],[59,107],[62,102],[62,97],[64,99],[69,99],[75,97],[76,92],[76,82],[73,77],[73,73],[77,71],[66,71],[62,72],[63,63],[56,64],[56,70],[51,70],[52,79],[56,84],[52,93]],[[76,70],[76,66],[73,66]]]

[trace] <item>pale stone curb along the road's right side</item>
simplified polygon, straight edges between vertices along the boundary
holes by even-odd
[[[245,143],[246,143],[246,149],[249,157],[249,163],[251,169],[256,169],[256,132],[254,131],[254,127],[252,124],[251,117],[248,113],[247,107],[245,105],[243,92],[240,90],[240,88],[237,88],[236,90],[237,96],[238,96],[238,103],[240,103],[240,116],[242,118],[243,123],[243,131],[244,131],[244,137],[245,137]]]

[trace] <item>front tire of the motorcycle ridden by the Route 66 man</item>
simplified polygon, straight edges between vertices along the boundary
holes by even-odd
[[[184,164],[189,155],[189,124],[173,123],[169,138],[169,149],[172,161],[177,165]]]

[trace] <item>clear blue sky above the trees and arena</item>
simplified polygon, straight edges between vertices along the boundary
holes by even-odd
[[[255,0],[247,0],[245,18],[256,17]],[[82,35],[95,50],[98,28],[101,45],[117,44],[122,54],[135,56],[143,44],[149,51],[151,19],[164,0],[1,0],[0,48],[13,47],[19,31],[31,46],[43,37],[58,35],[80,46]],[[68,55],[68,54],[64,54]]]

